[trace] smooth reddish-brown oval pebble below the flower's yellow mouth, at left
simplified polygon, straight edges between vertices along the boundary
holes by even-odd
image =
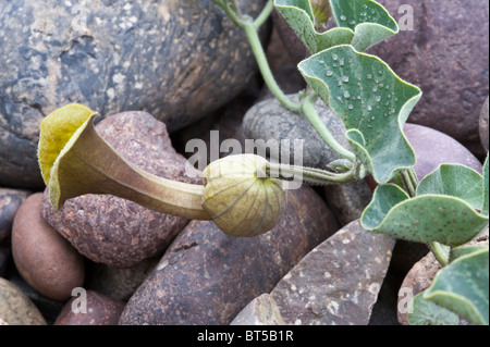
[[[42,193],[19,208],[12,227],[12,255],[24,280],[58,301],[66,300],[85,278],[84,258],[41,216]]]

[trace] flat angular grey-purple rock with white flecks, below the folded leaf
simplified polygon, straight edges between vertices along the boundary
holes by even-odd
[[[358,220],[321,243],[270,293],[286,324],[368,324],[394,244]]]

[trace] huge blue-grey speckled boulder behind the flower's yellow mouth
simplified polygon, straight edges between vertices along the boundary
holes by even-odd
[[[254,16],[266,1],[237,3]],[[42,186],[39,122],[63,104],[148,111],[174,131],[257,71],[245,35],[210,0],[2,1],[0,13],[0,185]]]

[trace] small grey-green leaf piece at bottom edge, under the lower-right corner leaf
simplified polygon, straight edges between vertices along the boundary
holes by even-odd
[[[458,325],[460,318],[454,312],[440,307],[417,294],[411,303],[408,323],[411,325]]]

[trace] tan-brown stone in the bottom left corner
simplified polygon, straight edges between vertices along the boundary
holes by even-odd
[[[0,318],[9,325],[46,325],[36,306],[15,285],[0,277]]]

